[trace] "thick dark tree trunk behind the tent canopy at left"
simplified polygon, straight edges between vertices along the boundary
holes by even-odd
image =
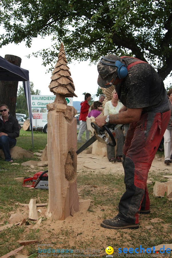
[[[13,55],[5,55],[5,59],[11,64],[20,67],[21,58]],[[9,112],[15,117],[15,105],[17,99],[18,81],[0,81],[0,105],[5,104]]]

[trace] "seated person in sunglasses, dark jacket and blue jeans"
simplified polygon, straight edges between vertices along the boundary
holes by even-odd
[[[3,150],[5,161],[13,162],[9,148],[15,146],[15,138],[19,137],[19,123],[18,120],[9,113],[7,105],[0,105],[0,112],[0,149]]]

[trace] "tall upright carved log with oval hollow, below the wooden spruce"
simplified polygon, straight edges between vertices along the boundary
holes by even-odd
[[[47,109],[49,203],[46,217],[64,220],[71,215],[71,210],[79,210],[76,110],[55,101]]]

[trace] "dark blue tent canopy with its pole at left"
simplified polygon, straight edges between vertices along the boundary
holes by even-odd
[[[32,110],[30,100],[30,83],[29,71],[25,70],[15,64],[11,64],[5,58],[0,56],[0,81],[22,81],[24,93],[28,105],[30,126],[32,131],[32,146],[33,146],[33,128],[32,128]]]

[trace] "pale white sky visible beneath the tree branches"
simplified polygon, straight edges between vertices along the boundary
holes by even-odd
[[[3,30],[0,28],[0,34],[2,31]],[[39,89],[41,91],[41,95],[52,95],[53,93],[50,92],[48,88],[51,81],[50,77],[52,75],[51,73],[46,73],[50,66],[44,67],[42,65],[43,61],[41,56],[37,58],[34,56],[31,56],[30,58],[26,57],[27,55],[32,54],[32,52],[36,52],[50,46],[51,37],[46,37],[45,39],[38,37],[33,39],[31,48],[26,47],[24,42],[17,45],[10,43],[7,46],[2,46],[2,48],[0,48],[0,56],[3,58],[5,57],[5,54],[19,56],[21,58],[20,67],[29,70],[29,79],[34,83],[34,90]],[[56,61],[57,60],[55,60],[55,62]],[[75,85],[75,94],[78,96],[73,97],[73,101],[83,101],[84,95],[82,95],[82,93],[84,92],[89,92],[91,95],[95,95],[98,88],[97,65],[93,64],[89,66],[89,61],[78,62],[74,60],[74,62],[68,64],[68,66]],[[98,98],[96,97],[95,100],[98,100]]]

